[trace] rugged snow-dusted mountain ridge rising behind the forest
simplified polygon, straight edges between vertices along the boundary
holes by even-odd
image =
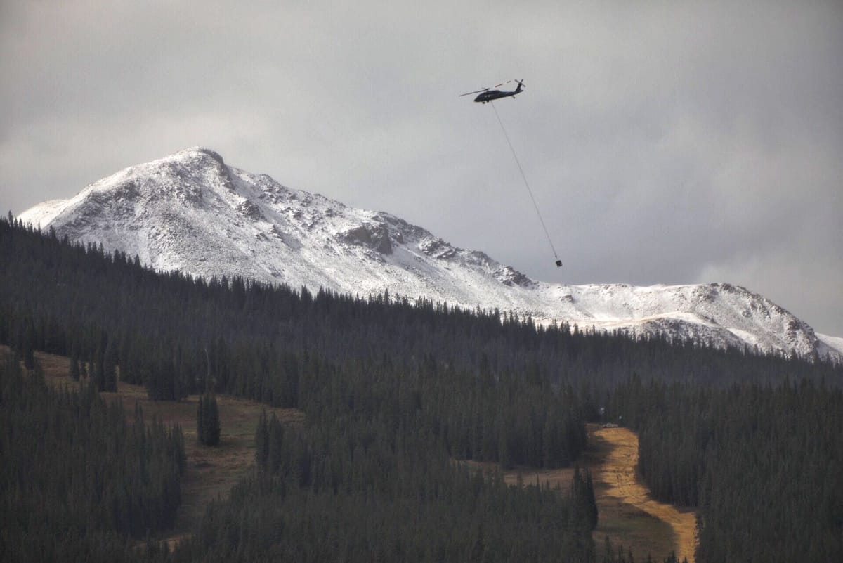
[[[534,281],[384,212],[293,190],[192,147],[94,182],[19,217],[71,240],[138,255],[156,269],[244,276],[312,290],[425,297],[715,346],[758,346],[843,360],[843,339],[744,287],[567,286]]]

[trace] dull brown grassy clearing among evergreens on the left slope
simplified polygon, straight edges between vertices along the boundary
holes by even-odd
[[[8,348],[0,346],[0,354],[6,352]],[[67,357],[35,352],[35,358],[43,367],[48,383],[78,389],[79,384],[70,378],[70,360]],[[255,428],[263,410],[266,410],[267,416],[275,413],[287,424],[304,421],[301,410],[275,409],[255,401],[217,394],[222,432],[219,445],[211,448],[201,445],[196,437],[199,395],[191,395],[181,401],[152,401],[147,398],[146,389],[118,382],[116,393],[103,393],[102,396],[121,401],[130,420],[135,415],[135,405],[140,404],[147,421],[155,417],[165,424],[181,426],[187,454],[185,475],[181,481],[182,502],[175,527],[161,538],[170,544],[192,534],[208,503],[217,497],[228,496],[228,491],[250,470],[255,461]]]

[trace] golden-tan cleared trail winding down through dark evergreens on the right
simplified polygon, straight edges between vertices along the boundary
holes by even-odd
[[[696,519],[691,509],[680,509],[652,497],[637,472],[638,437],[628,428],[599,428],[593,440],[605,442],[603,463],[592,466],[592,476],[600,494],[636,507],[667,523],[673,530],[676,557],[694,563]],[[600,502],[599,502],[600,504]],[[653,554],[656,555],[656,554]],[[659,555],[660,557],[663,556]]]

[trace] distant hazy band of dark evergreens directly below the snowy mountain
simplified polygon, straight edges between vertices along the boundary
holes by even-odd
[[[497,310],[418,298],[339,295],[241,278],[145,269],[137,256],[71,244],[0,218],[0,341],[78,357],[102,385],[121,378],[153,399],[209,388],[298,406],[305,355],[333,364],[449,367],[497,379],[524,373],[551,384],[588,382],[593,399],[631,373],[712,384],[825,377],[841,368],[667,338],[536,325]],[[306,377],[306,376],[305,376]]]

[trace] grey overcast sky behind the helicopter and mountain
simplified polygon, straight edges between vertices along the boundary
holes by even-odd
[[[0,77],[3,212],[202,145],[534,279],[728,281],[843,336],[839,1],[0,0]],[[514,78],[561,269],[458,97]]]

